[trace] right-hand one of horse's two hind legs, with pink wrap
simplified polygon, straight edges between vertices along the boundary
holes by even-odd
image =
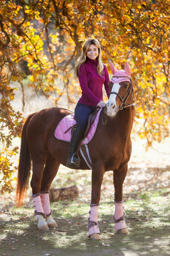
[[[57,174],[58,167],[59,163],[57,162],[57,160],[52,158],[52,156],[49,156],[45,163],[44,173],[41,181],[41,203],[46,216],[46,223],[49,226],[49,228],[57,227],[57,223],[56,221],[54,221],[51,215],[52,210],[50,209],[49,188],[54,177]]]

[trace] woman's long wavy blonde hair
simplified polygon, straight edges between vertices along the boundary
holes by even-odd
[[[78,72],[80,71],[80,65],[84,63],[87,59],[87,51],[88,48],[91,46],[91,44],[94,44],[99,49],[99,55],[97,56],[97,73],[101,76],[103,73],[103,64],[101,63],[101,47],[100,43],[97,39],[87,39],[87,41],[83,44],[83,49],[82,49],[82,55],[76,60],[75,63],[75,77],[78,77]]]

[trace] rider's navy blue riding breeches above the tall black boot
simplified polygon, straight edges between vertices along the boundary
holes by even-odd
[[[75,119],[80,128],[85,131],[88,124],[88,117],[97,110],[95,106],[87,106],[78,102],[75,107]]]

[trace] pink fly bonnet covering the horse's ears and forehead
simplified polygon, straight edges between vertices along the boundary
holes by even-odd
[[[123,82],[123,81],[128,81],[128,82],[131,81],[130,80],[131,71],[127,61],[125,63],[125,71],[123,70],[118,71],[117,68],[114,67],[111,61],[110,61],[110,65],[111,65],[111,71],[113,74],[111,82],[119,84],[120,82]]]

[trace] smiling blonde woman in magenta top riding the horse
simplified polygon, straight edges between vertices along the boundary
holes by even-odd
[[[70,168],[80,166],[80,159],[76,155],[76,150],[83,139],[89,115],[95,112],[97,107],[103,108],[105,106],[102,92],[103,84],[107,96],[109,95],[109,75],[107,67],[101,63],[101,48],[98,40],[88,39],[84,43],[82,55],[75,63],[75,75],[79,79],[82,97],[75,108],[77,126],[71,137],[67,158],[67,167]]]

